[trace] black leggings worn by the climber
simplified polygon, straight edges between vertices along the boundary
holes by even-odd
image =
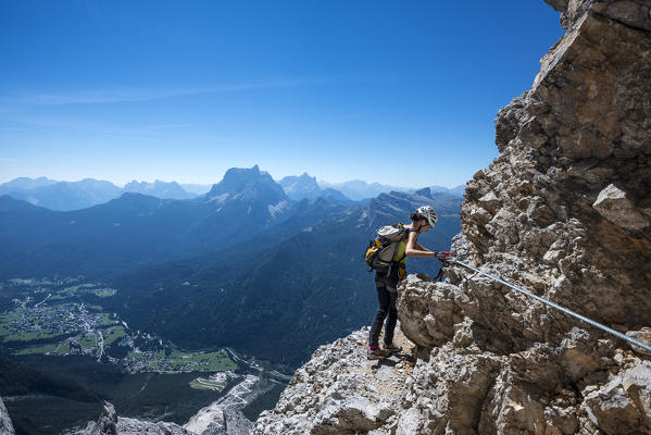
[[[398,268],[396,268],[397,270]],[[385,345],[393,343],[393,331],[396,330],[396,322],[398,321],[398,310],[396,309],[396,299],[398,298],[398,274],[376,272],[375,273],[375,287],[377,289],[377,301],[379,308],[373,319],[373,325],[371,326],[371,333],[368,334],[368,345],[377,346],[381,325],[387,319],[385,325]],[[388,316],[387,316],[388,314]]]

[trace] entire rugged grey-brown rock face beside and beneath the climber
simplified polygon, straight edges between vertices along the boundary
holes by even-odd
[[[649,339],[651,1],[548,2],[566,34],[499,112],[452,250]],[[322,347],[254,433],[651,434],[650,357],[625,341],[460,265],[411,275],[398,309],[413,361],[373,372],[363,332]]]

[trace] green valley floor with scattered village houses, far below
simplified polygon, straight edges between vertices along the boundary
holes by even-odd
[[[0,283],[0,290],[4,296],[0,341],[13,355],[88,356],[118,364],[127,373],[231,373],[238,369],[230,350],[184,352],[160,337],[132,331],[101,306],[116,290],[84,277],[11,279]]]

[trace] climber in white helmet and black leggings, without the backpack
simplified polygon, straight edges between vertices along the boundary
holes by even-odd
[[[375,272],[375,286],[377,289],[377,300],[379,308],[373,319],[371,333],[368,334],[368,359],[383,359],[391,353],[400,352],[401,347],[393,344],[393,331],[398,320],[398,310],[396,299],[398,298],[398,282],[405,276],[405,265],[408,257],[435,257],[439,260],[449,259],[450,252],[430,251],[418,245],[418,234],[427,233],[429,228],[436,225],[438,219],[436,211],[429,206],[420,207],[414,213],[410,214],[412,223],[404,225],[404,236],[396,249],[392,259],[392,266],[387,272]],[[379,333],[385,323],[384,349],[378,346]]]

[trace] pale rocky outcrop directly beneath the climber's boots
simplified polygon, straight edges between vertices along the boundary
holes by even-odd
[[[409,346],[399,332],[396,338]],[[326,435],[395,426],[411,366],[397,357],[367,361],[367,340],[366,328],[318,348],[253,433]]]

